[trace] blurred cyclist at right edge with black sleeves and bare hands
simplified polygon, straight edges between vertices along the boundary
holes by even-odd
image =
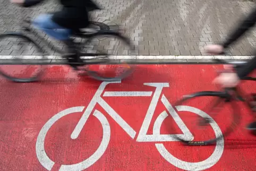
[[[206,47],[206,52],[209,54],[221,54],[224,50],[230,46],[234,41],[240,38],[246,31],[254,26],[256,22],[256,7],[250,12],[250,14],[238,25],[238,27],[229,35],[227,41],[222,45],[209,45]],[[220,84],[223,87],[236,87],[240,82],[240,78],[250,74],[256,68],[256,57],[254,56],[251,61],[242,66],[237,73],[229,72],[222,73],[214,80],[215,83]],[[230,69],[232,70],[232,69]],[[256,122],[253,122],[247,126],[249,130],[256,130]]]

